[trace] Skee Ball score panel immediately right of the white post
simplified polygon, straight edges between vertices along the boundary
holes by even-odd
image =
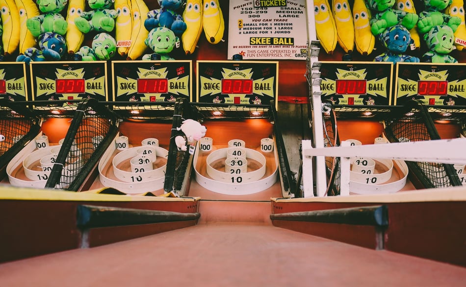
[[[391,104],[393,63],[319,63],[323,101],[345,106]]]

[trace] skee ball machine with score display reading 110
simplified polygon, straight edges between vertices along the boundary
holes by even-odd
[[[130,194],[161,195],[167,170],[173,129],[181,125],[180,103],[192,89],[191,61],[113,61],[113,110],[122,119],[115,145],[99,163],[99,181],[92,189],[112,187]],[[178,99],[177,99],[178,98]],[[188,157],[187,157],[188,158]],[[173,153],[177,161],[177,153]],[[182,168],[182,169],[181,169]],[[179,167],[188,173],[188,165]],[[173,177],[170,177],[171,179]],[[176,195],[183,196],[178,189]]]

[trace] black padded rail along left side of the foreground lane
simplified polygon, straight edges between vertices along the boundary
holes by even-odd
[[[200,213],[179,213],[107,206],[78,205],[77,225],[79,228],[95,228],[150,224],[195,220],[200,216]]]

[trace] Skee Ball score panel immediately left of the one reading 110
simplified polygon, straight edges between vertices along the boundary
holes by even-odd
[[[108,101],[105,61],[31,62],[32,100]]]

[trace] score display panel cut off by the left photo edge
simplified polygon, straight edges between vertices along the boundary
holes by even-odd
[[[0,62],[0,98],[25,101],[27,91],[26,63]]]

